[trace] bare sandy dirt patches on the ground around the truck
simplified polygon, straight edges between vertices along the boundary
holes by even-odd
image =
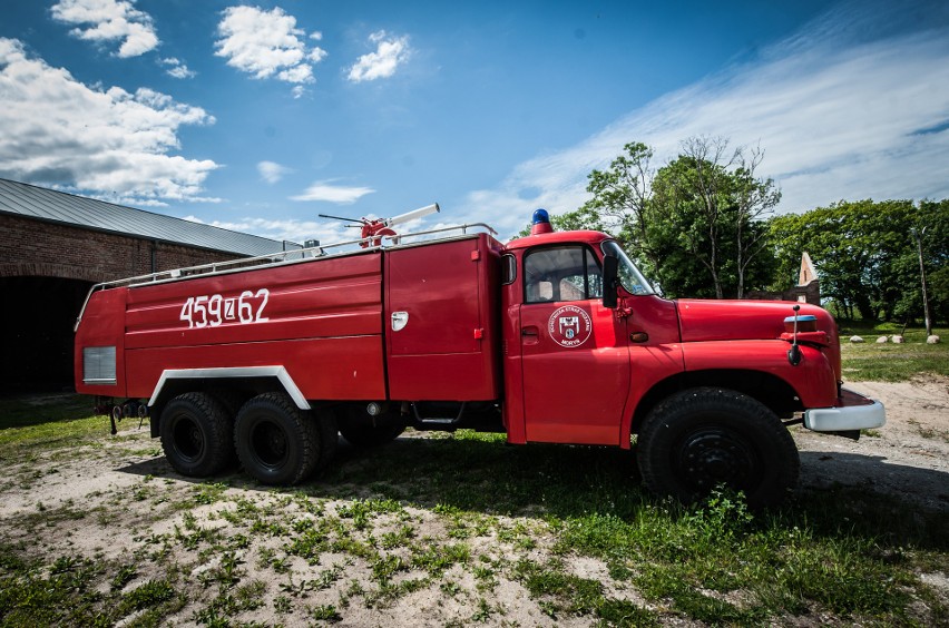
[[[805,489],[834,484],[865,487],[868,491],[900,495],[921,508],[949,511],[949,379],[899,384],[853,383],[848,387],[882,401],[888,412],[887,425],[862,436],[859,442],[793,428],[801,451],[801,485]],[[261,511],[271,509],[267,521],[272,522],[297,526],[313,518],[312,512],[306,512],[290,497],[260,488],[248,490],[251,482],[243,487],[239,479],[232,481],[229,487],[222,485],[229,501],[208,500],[206,506],[194,508],[202,484],[175,474],[162,457],[158,441],[150,440],[147,432],[147,425],[139,430],[136,421],[126,421],[118,436],[104,438],[95,447],[78,451],[51,450],[25,460],[0,461],[0,473],[7,480],[0,485],[0,539],[21,547],[27,544],[39,556],[78,553],[118,563],[131,556],[139,557],[138,560],[145,556],[160,557],[163,547],[177,548],[170,550],[176,555],[174,561],[189,573],[189,581],[200,581],[203,573],[221,571],[222,555],[212,550],[189,553],[180,548],[187,547],[189,538],[195,539],[196,547],[204,547],[199,538],[211,536],[208,530],[225,532],[228,517],[236,516],[237,510],[232,508],[235,503],[252,503]],[[184,499],[192,500],[188,513],[174,506]],[[325,508],[325,514],[333,514],[346,506],[342,500],[329,500],[321,508]],[[443,519],[429,510],[411,507],[405,507],[398,516],[373,520],[372,533],[383,538],[407,522],[414,527],[415,538],[422,540],[434,542],[450,536]],[[529,527],[542,538],[541,528],[546,524],[539,520],[500,517],[495,526],[497,530]],[[238,530],[248,537],[255,536],[253,529]],[[229,538],[237,538],[233,532],[232,527]],[[280,598],[285,599],[286,605],[295,605],[293,608],[299,611],[306,609],[312,614],[320,605],[339,605],[348,590],[370,586],[364,575],[365,566],[356,560],[356,570],[362,569],[363,576],[353,578],[352,557],[333,553],[323,555],[317,566],[293,558],[285,566],[290,576],[272,567],[262,568],[260,556],[266,551],[262,548],[270,543],[277,550],[280,539],[266,540],[266,534],[260,533],[256,538],[264,540],[223,555],[243,565],[243,572],[263,581],[267,591],[262,593],[264,599],[256,610],[241,615],[244,621],[304,625],[306,619],[295,611],[278,614],[274,610],[282,604]],[[521,556],[519,552],[524,552],[525,558],[539,558],[546,551],[542,544],[518,549],[503,542],[498,532],[489,533],[472,549],[485,566],[490,566],[492,560],[500,562],[506,557]],[[150,551],[158,553],[148,555]],[[583,558],[570,569],[585,578],[610,580],[606,566],[598,560]],[[314,585],[320,579],[329,581],[339,577],[340,572],[345,575],[326,590]],[[410,572],[404,578],[411,576]],[[139,573],[126,588],[141,586],[148,577],[154,575]],[[467,625],[472,617],[478,617],[472,612],[477,614],[479,604],[487,605],[486,600],[491,600],[490,606],[483,606],[491,618],[488,625],[586,626],[591,621],[590,618],[569,617],[552,620],[536,600],[530,599],[524,586],[515,581],[505,580],[502,586],[495,586],[490,595],[485,595],[472,572],[458,565],[440,581],[441,588],[432,586],[412,592],[389,607],[364,608],[354,604],[345,609],[340,625]],[[293,597],[295,593],[287,582],[301,588],[310,582],[311,589],[299,598]],[[945,586],[942,582],[941,587]],[[614,590],[610,585],[608,592],[617,599],[644,604],[632,588]],[[208,604],[208,600],[193,598],[188,606],[164,621],[195,625],[196,610],[200,608],[196,606],[198,602]],[[492,612],[496,615],[490,615]]]

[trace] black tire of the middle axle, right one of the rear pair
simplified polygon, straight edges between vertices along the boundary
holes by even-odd
[[[283,393],[265,393],[241,408],[234,445],[244,470],[265,484],[296,484],[320,462],[317,421]]]

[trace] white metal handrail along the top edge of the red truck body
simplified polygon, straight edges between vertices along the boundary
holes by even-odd
[[[92,293],[100,290],[109,290],[114,287],[128,286],[128,287],[139,287],[149,284],[158,284],[158,283],[167,283],[167,282],[176,282],[186,278],[197,277],[197,276],[211,276],[223,273],[233,273],[238,271],[247,271],[251,268],[265,268],[268,266],[276,266],[278,264],[285,263],[296,263],[305,259],[316,259],[321,257],[334,257],[336,255],[346,255],[352,253],[360,252],[369,252],[369,251],[379,251],[382,248],[390,248],[393,246],[402,245],[402,241],[407,238],[414,238],[419,236],[448,233],[454,230],[461,230],[462,235],[468,234],[468,229],[470,228],[483,228],[492,235],[498,235],[490,225],[486,223],[466,223],[463,225],[452,225],[448,227],[440,227],[437,229],[430,229],[427,232],[413,232],[407,234],[398,234],[398,235],[375,235],[359,239],[352,241],[343,241],[336,242],[333,244],[311,246],[306,248],[294,248],[292,251],[277,251],[267,255],[257,255],[255,257],[239,257],[237,259],[227,259],[224,262],[213,262],[211,264],[199,264],[196,266],[187,266],[184,268],[173,268],[169,271],[159,271],[157,273],[149,273],[147,275],[136,275],[134,277],[126,277],[124,279],[114,279],[111,282],[102,282],[94,285],[89,288],[89,294],[86,295],[86,301],[82,302],[82,308],[79,311],[79,315],[76,317],[76,324],[72,327],[72,331],[79,330],[79,323],[82,321],[82,315],[86,313],[86,306],[89,304],[89,300],[92,297]],[[449,236],[444,238],[436,238],[431,242],[439,242],[440,239],[448,239]],[[389,245],[385,245],[385,242],[389,241]],[[359,246],[359,251],[341,251],[335,254],[327,254],[326,249],[329,248],[341,248],[341,247],[354,247]],[[290,256],[299,256],[299,258],[290,259]]]

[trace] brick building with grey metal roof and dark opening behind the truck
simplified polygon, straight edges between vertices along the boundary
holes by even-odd
[[[0,391],[71,386],[72,325],[97,283],[290,247],[0,179]]]

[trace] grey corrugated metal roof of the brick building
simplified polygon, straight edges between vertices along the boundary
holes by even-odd
[[[238,255],[267,255],[284,251],[284,246],[300,248],[295,243],[242,234],[2,178],[0,213]]]

